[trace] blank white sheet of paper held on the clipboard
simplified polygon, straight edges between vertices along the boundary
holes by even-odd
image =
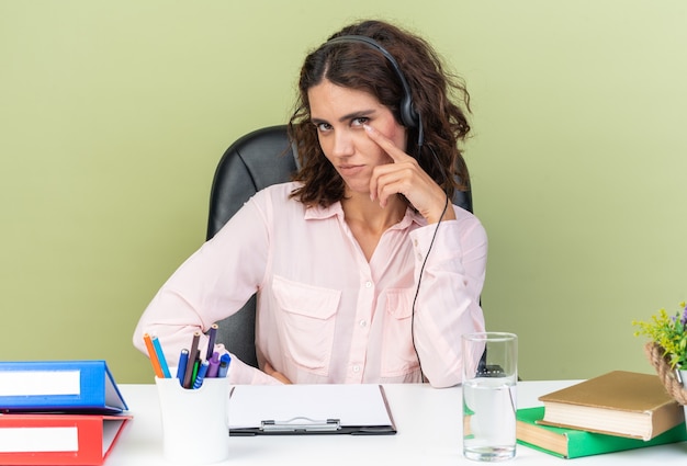
[[[342,427],[391,425],[379,385],[239,385],[229,399],[229,429],[262,421],[337,419]]]

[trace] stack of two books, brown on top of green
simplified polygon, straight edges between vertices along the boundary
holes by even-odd
[[[564,458],[687,440],[685,411],[656,375],[613,371],[519,409],[518,443]]]

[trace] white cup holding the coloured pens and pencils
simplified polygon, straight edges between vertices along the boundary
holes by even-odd
[[[155,378],[162,421],[165,458],[184,465],[205,465],[229,457],[228,390],[226,378],[206,378],[198,389],[181,387],[178,378]]]

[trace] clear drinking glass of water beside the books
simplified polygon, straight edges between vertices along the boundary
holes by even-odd
[[[481,332],[462,337],[463,454],[497,462],[516,454],[518,337]]]

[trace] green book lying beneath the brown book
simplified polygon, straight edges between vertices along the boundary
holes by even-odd
[[[644,442],[640,439],[606,435],[575,429],[554,428],[538,424],[544,417],[544,408],[518,409],[517,440],[521,445],[539,450],[563,458],[599,455],[601,453],[642,448],[687,440],[687,428],[680,423],[654,439]]]

